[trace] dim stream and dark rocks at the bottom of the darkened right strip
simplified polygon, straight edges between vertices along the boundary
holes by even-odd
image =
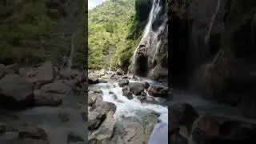
[[[169,110],[169,142],[226,144],[256,142],[256,121],[237,107],[210,102],[191,94],[174,95]]]

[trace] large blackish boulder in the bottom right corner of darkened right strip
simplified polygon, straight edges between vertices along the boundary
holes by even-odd
[[[231,118],[206,114],[200,116],[191,131],[195,143],[255,143],[256,125]]]

